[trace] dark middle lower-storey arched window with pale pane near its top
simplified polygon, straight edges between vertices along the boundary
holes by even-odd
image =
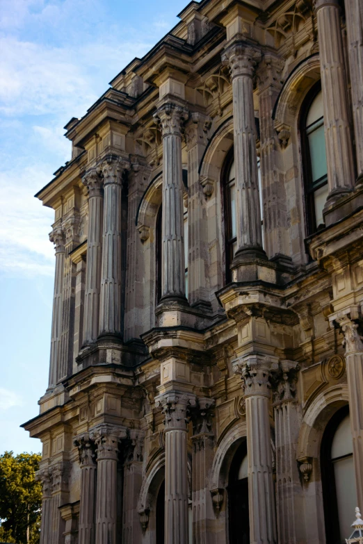
[[[229,542],[231,544],[249,544],[248,456],[245,438],[232,459],[227,491]]]

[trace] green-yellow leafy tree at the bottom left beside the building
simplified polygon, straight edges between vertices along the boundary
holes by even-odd
[[[38,544],[42,484],[35,481],[40,454],[0,455],[0,542]]]

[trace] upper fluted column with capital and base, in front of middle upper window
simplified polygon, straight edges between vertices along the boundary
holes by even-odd
[[[266,258],[262,249],[252,84],[254,67],[259,58],[258,51],[243,41],[232,42],[223,53],[223,63],[229,65],[232,75],[238,245],[236,260],[244,255]]]

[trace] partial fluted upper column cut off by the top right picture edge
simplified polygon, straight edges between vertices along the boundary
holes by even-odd
[[[363,182],[363,3],[362,0],[349,0],[346,9],[346,31],[352,88],[353,122],[355,131],[355,151],[360,183]]]

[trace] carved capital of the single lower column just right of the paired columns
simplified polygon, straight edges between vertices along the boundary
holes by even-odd
[[[181,429],[186,431],[191,408],[197,405],[195,395],[171,391],[155,399],[156,408],[160,408],[164,415],[166,431]]]

